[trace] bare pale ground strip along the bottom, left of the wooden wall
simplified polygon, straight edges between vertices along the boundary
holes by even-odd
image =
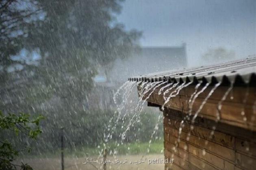
[[[97,159],[97,156],[90,157],[90,159]],[[164,164],[150,164],[148,165],[148,159],[164,159],[163,154],[151,154],[151,155],[118,155],[116,159],[120,161],[127,160],[125,164],[114,164],[113,157],[107,157],[107,160],[112,161],[112,163],[107,164],[107,170],[163,170]],[[101,158],[100,158],[101,159]],[[99,159],[99,160],[100,160]],[[140,161],[143,159],[145,163],[137,164],[134,161]],[[61,159],[60,158],[27,158],[22,159],[17,162],[23,161],[28,163],[33,167],[34,170],[61,170]],[[98,163],[87,163],[83,164],[86,161],[84,157],[65,157],[65,170],[97,170],[100,169],[100,164]],[[132,164],[129,164],[132,161]]]

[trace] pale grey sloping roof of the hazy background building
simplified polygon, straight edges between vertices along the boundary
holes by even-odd
[[[169,47],[141,47],[126,59],[117,59],[108,72],[112,81],[123,83],[133,75],[143,75],[187,66],[186,44]]]

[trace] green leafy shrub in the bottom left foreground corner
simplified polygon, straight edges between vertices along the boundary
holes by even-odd
[[[10,139],[6,138],[11,132],[15,132],[16,136],[20,133],[26,135],[28,138],[36,139],[37,136],[42,132],[39,128],[39,122],[43,119],[42,116],[30,119],[30,115],[19,113],[19,115],[8,114],[4,115],[0,111],[0,170],[16,170],[20,167],[22,170],[32,170],[28,164],[16,165],[13,164],[15,157],[19,155],[21,151],[30,152],[30,147],[24,149],[17,149],[10,142]]]

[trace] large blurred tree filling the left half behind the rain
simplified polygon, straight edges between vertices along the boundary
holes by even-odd
[[[114,14],[121,11],[121,2],[27,0],[27,4],[34,4],[37,15],[18,28],[24,32],[17,38],[19,48],[13,53],[5,49],[4,52],[11,62],[13,54],[20,50],[34,52],[40,60],[37,65],[28,64],[17,56],[15,62],[22,63],[24,68],[2,74],[9,78],[2,81],[6,83],[0,89],[4,113],[44,113],[48,123],[43,125],[42,138],[51,139],[51,147],[58,146],[54,138],[58,127],[72,131],[80,114],[85,114],[97,68],[106,68],[117,58],[128,57],[139,47],[141,32],[127,32],[115,21]],[[8,49],[7,45],[4,47]]]

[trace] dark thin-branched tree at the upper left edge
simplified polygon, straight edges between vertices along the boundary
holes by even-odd
[[[22,47],[22,40],[28,35],[27,28],[33,24],[41,9],[33,0],[0,1],[0,78],[5,80],[7,69],[12,64],[24,64],[11,59]]]

